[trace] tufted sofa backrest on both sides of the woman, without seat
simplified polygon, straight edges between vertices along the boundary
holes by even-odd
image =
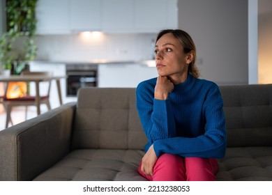
[[[272,85],[219,86],[227,146],[272,146]],[[135,88],[81,88],[72,147],[143,149]]]

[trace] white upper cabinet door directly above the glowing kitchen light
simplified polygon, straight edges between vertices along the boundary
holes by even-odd
[[[70,31],[101,31],[100,0],[70,0]]]

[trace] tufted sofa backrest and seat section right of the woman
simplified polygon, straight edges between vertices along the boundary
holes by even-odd
[[[220,86],[227,153],[218,180],[272,180],[272,85]]]

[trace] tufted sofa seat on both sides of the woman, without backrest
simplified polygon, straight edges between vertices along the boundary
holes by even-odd
[[[142,150],[73,150],[34,180],[146,180],[137,168]],[[217,180],[272,180],[272,147],[227,148]]]

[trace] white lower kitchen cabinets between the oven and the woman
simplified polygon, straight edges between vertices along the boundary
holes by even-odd
[[[98,65],[98,87],[137,87],[141,81],[157,76],[156,68],[142,64]]]

